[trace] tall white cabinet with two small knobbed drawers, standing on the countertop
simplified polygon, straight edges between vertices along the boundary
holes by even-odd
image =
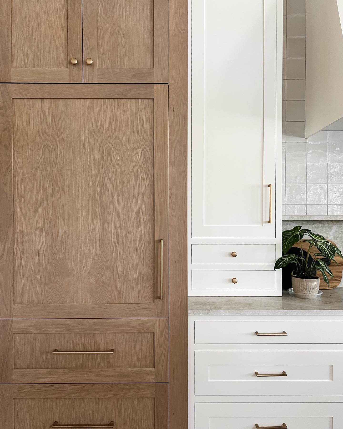
[[[283,2],[189,2],[189,294],[280,296]]]

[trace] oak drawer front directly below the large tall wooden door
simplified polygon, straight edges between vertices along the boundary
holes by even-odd
[[[2,383],[168,381],[167,319],[6,320],[1,332]]]

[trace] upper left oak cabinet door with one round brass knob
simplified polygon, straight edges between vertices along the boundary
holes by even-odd
[[[82,82],[82,0],[1,0],[0,40],[0,82]]]

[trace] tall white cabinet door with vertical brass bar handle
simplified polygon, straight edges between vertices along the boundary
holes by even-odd
[[[276,237],[280,3],[192,0],[194,238]]]

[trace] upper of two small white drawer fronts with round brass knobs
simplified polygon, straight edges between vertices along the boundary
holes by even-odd
[[[234,255],[234,256],[233,256]],[[193,264],[275,264],[272,244],[193,244]]]

